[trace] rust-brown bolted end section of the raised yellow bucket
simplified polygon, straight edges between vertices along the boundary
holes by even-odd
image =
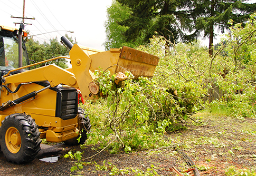
[[[120,51],[115,73],[130,71],[135,76],[134,79],[140,76],[152,77],[158,62],[157,56],[124,46]]]

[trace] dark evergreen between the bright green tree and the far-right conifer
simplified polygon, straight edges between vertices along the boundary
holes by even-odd
[[[187,22],[188,18],[184,16],[184,13],[177,11],[177,9],[183,8],[184,1],[117,1],[130,8],[132,12],[128,18],[119,22],[120,25],[127,27],[124,32],[126,41],[134,42],[141,38],[140,44],[145,44],[149,42],[149,38],[155,35],[155,32],[158,32],[174,43],[178,39],[188,40],[184,31],[192,32],[187,26],[190,23]],[[193,37],[193,35],[190,36]],[[189,38],[189,40],[192,39]]]

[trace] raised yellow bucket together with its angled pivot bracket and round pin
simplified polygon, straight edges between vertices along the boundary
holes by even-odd
[[[94,83],[93,73],[96,70],[108,70],[111,75],[129,71],[134,75],[134,79],[138,79],[140,76],[152,77],[159,62],[159,57],[127,46],[99,51],[74,44],[69,54],[72,63],[72,69],[69,71],[74,73],[85,99],[96,99],[90,94],[99,93],[99,86]]]

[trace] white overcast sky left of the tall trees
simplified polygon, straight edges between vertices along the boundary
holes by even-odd
[[[112,0],[25,0],[25,30],[30,31],[41,43],[49,42],[50,38],[65,35],[64,31],[78,42],[79,45],[105,50],[102,45],[106,40],[104,22],[107,20],[107,7]],[[22,19],[11,18],[23,16],[23,0],[0,0],[0,24],[15,27],[14,22]],[[16,28],[20,24],[16,25]],[[59,32],[53,32],[59,31]]]

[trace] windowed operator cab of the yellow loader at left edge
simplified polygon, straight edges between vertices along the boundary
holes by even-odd
[[[26,33],[23,33],[26,34]],[[23,58],[22,65],[29,65],[24,40],[22,40]],[[16,28],[0,25],[0,70],[18,68],[18,30]]]

